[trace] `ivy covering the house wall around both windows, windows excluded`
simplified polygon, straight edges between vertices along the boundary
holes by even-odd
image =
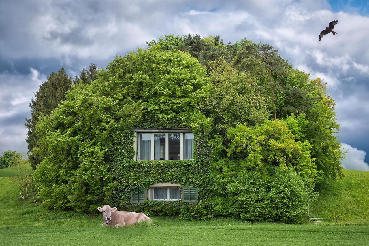
[[[156,122],[154,125],[144,124],[145,127],[168,126],[167,122],[162,124]],[[139,126],[142,128],[142,125]],[[183,125],[171,125],[170,128],[179,128]],[[179,207],[196,206],[194,204],[182,204],[181,201],[157,202],[146,201],[144,204],[130,204],[131,190],[137,187],[149,188],[154,183],[176,183],[181,186],[197,187],[199,201],[206,200],[214,195],[214,184],[209,173],[209,163],[212,161],[213,148],[210,146],[210,129],[202,123],[187,126],[192,129],[194,135],[194,151],[192,160],[146,160],[135,161],[134,155],[134,131],[126,129],[124,134],[113,143],[108,153],[107,162],[110,163],[110,171],[114,176],[106,194],[110,197],[109,204],[116,207],[124,207],[127,210],[139,211],[143,209],[148,212],[149,207],[156,207],[154,214],[171,215],[179,212]],[[169,127],[168,127],[169,128]],[[110,193],[110,194],[109,194]],[[163,204],[165,204],[163,206]],[[163,209],[158,209],[163,207]],[[165,209],[166,211],[165,212]],[[169,209],[170,208],[170,209]],[[151,211],[151,213],[153,213]]]

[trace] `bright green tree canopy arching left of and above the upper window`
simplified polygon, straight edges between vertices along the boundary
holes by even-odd
[[[207,86],[206,69],[189,53],[138,50],[116,57],[97,80],[74,86],[41,117],[39,197],[50,208],[96,210],[113,180],[105,156],[111,144],[138,122],[196,124]]]

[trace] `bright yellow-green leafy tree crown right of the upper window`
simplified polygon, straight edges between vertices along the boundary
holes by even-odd
[[[298,134],[297,125],[293,126]],[[296,141],[285,121],[265,120],[260,126],[240,124],[230,128],[227,136],[231,140],[228,156],[244,159],[249,170],[266,171],[278,166],[282,170],[292,168],[300,176],[312,180],[317,176],[310,143]]]

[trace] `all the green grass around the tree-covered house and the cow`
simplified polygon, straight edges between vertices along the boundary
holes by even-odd
[[[314,215],[332,216],[342,208],[354,211],[347,216],[365,215],[368,207],[358,204],[368,197],[369,172],[345,172],[344,180],[322,188],[311,210]],[[181,221],[157,216],[150,226],[108,228],[101,225],[101,214],[46,210],[32,199],[20,199],[17,184],[8,177],[0,177],[0,187],[0,245],[367,245],[369,241],[369,225],[251,224],[232,218]],[[358,201],[347,202],[351,198]],[[342,207],[337,199],[348,205]]]

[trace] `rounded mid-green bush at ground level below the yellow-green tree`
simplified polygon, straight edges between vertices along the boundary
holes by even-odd
[[[229,212],[246,221],[300,223],[306,220],[309,190],[294,171],[248,171],[228,184]]]

